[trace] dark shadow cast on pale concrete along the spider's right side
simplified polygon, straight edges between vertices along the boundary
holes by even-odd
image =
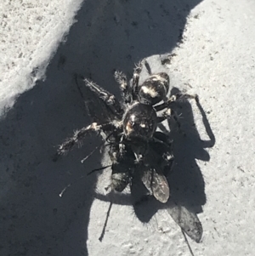
[[[180,93],[178,88],[173,88],[171,94]],[[202,206],[207,202],[205,194],[205,181],[201,169],[195,159],[203,162],[210,161],[210,155],[206,148],[215,145],[215,137],[207,120],[205,111],[200,102],[196,102],[203,125],[209,139],[201,140],[195,127],[193,111],[188,100],[178,101],[173,105],[173,111],[177,113],[184,134],[179,133],[176,123],[168,120],[170,137],[173,139],[173,155],[175,164],[173,171],[168,175],[168,182],[172,191],[172,199],[178,205],[189,208],[193,213],[201,213]]]

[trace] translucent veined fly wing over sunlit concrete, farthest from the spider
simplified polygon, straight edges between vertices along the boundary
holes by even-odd
[[[179,206],[174,202],[170,208],[167,208],[167,212],[192,240],[201,241],[203,229],[196,213],[192,213],[184,206]]]

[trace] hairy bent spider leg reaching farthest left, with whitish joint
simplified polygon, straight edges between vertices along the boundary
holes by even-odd
[[[113,125],[111,123],[98,124],[97,122],[93,122],[87,127],[83,127],[80,130],[77,130],[71,138],[65,140],[65,142],[59,145],[58,154],[62,155],[68,151],[71,151],[72,148],[81,143],[82,139],[84,139],[91,132],[98,131],[112,131]]]

